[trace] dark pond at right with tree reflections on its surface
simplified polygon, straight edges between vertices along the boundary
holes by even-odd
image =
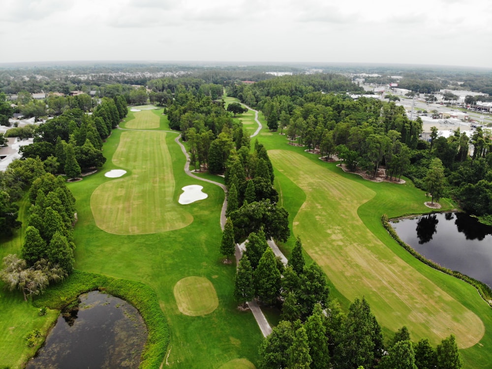
[[[392,223],[427,259],[492,286],[492,227],[463,213],[434,213]]]

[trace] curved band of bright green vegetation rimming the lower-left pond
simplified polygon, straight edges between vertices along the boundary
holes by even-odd
[[[132,304],[142,315],[148,330],[140,369],[158,369],[169,344],[169,328],[157,295],[148,285],[74,270],[63,283],[50,286],[33,305],[61,310],[85,292],[101,290]]]

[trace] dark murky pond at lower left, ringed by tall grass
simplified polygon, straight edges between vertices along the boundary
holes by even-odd
[[[138,310],[117,297],[92,291],[62,311],[27,369],[138,368],[147,328]]]

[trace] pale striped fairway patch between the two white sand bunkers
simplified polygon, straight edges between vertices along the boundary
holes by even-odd
[[[122,133],[113,162],[131,174],[108,179],[92,193],[92,215],[99,228],[122,235],[149,234],[183,228],[193,221],[175,199],[165,138],[160,131]]]

